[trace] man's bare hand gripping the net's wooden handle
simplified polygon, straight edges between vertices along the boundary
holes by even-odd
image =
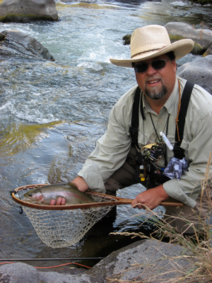
[[[131,202],[131,206],[139,209],[154,209],[158,207],[160,202],[167,200],[170,196],[165,192],[163,185],[154,187],[153,189],[148,189],[145,192],[137,195],[136,198]]]

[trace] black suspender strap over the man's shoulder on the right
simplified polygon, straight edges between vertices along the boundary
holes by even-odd
[[[183,132],[184,132],[184,122],[185,122],[185,117],[187,115],[187,109],[188,109],[189,100],[190,100],[193,88],[194,88],[194,83],[187,81],[186,85],[184,86],[184,90],[183,90],[182,98],[181,98],[181,107],[179,110],[179,121],[178,121],[179,140],[178,140],[178,134],[177,134],[177,127],[176,127],[175,146],[173,149],[175,158],[179,158],[179,159],[184,158],[184,149],[180,147],[180,144],[182,143]]]

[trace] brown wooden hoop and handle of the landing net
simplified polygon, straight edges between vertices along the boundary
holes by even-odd
[[[102,194],[100,192],[93,192],[88,191],[86,192],[86,195],[93,195],[97,197],[105,198],[105,200],[108,200],[107,202],[93,202],[88,204],[70,204],[70,205],[45,205],[45,204],[34,204],[30,202],[24,202],[23,200],[18,199],[16,197],[16,192],[19,190],[28,189],[28,187],[42,187],[46,184],[37,184],[37,185],[26,185],[22,187],[18,187],[16,190],[11,192],[12,199],[17,202],[20,205],[23,205],[25,207],[31,207],[35,209],[45,209],[45,210],[66,210],[66,209],[86,209],[91,207],[108,207],[112,205],[119,205],[119,204],[131,204],[133,200],[126,199],[123,197],[113,197],[111,195]],[[182,202],[161,202],[160,205],[163,206],[169,206],[169,207],[183,207],[184,204]]]

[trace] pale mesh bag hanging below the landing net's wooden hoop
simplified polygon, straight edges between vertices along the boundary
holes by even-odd
[[[25,189],[26,187],[16,193],[16,197],[20,200],[23,200]],[[100,197],[93,198],[95,201],[102,201]],[[37,236],[51,248],[64,248],[77,243],[96,222],[112,209],[112,206],[66,210],[35,209],[24,205],[22,207]]]

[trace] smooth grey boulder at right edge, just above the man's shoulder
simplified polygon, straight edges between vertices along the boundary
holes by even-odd
[[[177,68],[177,75],[198,84],[212,94],[212,55],[183,64]]]

